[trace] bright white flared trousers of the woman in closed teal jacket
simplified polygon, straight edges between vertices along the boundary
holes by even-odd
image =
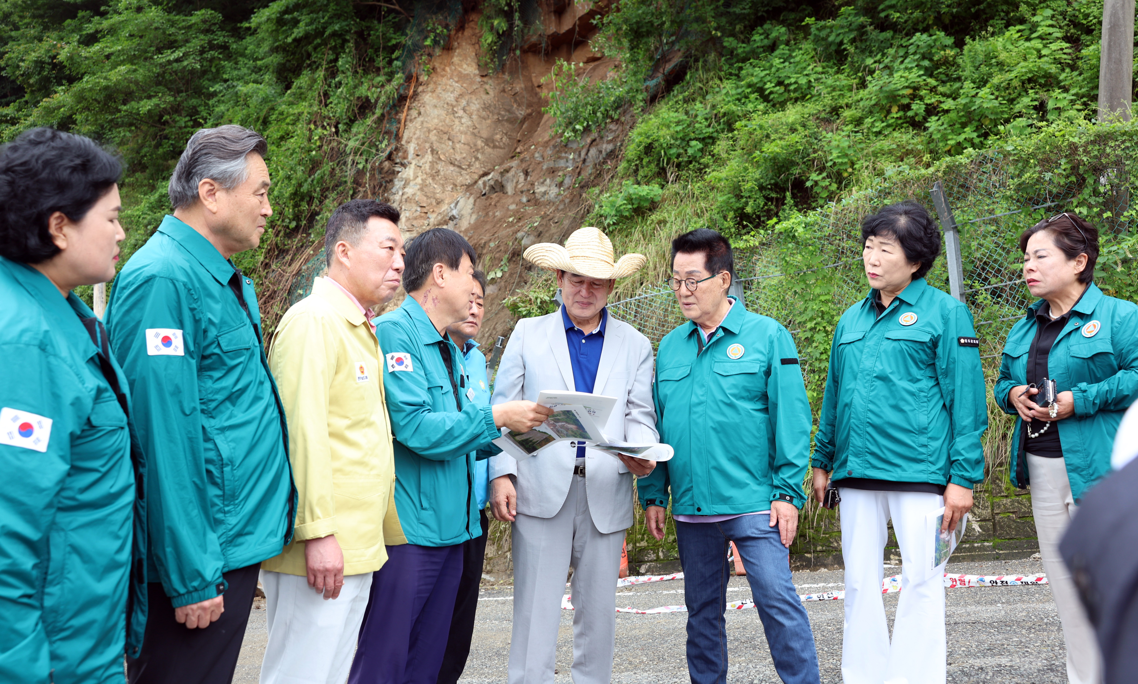
[[[838,483],[841,487],[841,481]],[[842,559],[846,562],[844,684],[943,684],[943,566],[929,567],[925,516],[945,505],[938,494],[868,492],[841,487]],[[881,598],[887,522],[901,547],[901,594],[889,638]]]

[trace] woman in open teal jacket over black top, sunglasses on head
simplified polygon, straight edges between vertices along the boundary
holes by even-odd
[[[1031,485],[1039,551],[1063,623],[1067,678],[1099,681],[1095,634],[1058,543],[1079,498],[1111,470],[1122,414],[1138,398],[1138,305],[1092,282],[1098,231],[1072,213],[1020,236],[1023,279],[1033,297],[1007,336],[996,403],[1016,414],[1011,477]],[[1055,401],[1047,402],[1054,382]]]

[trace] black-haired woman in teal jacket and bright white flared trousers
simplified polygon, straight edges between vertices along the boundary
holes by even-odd
[[[983,480],[988,427],[972,314],[924,275],[940,230],[916,203],[861,223],[869,294],[842,314],[815,438],[814,491],[841,497],[846,564],[842,681],[943,683],[947,676],[943,563],[927,553],[927,518],[955,530]],[[888,522],[901,551],[890,640],[881,599]]]

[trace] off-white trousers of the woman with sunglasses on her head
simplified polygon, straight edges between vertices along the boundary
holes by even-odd
[[[1079,506],[1071,496],[1071,481],[1064,459],[1046,459],[1028,454],[1031,476],[1031,512],[1036,517],[1039,555],[1052,587],[1055,608],[1063,624],[1063,641],[1067,650],[1067,681],[1071,684],[1098,684],[1102,681],[1102,657],[1095,628],[1079,601],[1071,571],[1059,557],[1059,539]]]

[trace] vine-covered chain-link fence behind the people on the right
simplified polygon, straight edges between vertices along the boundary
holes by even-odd
[[[1123,215],[1128,199],[1123,162],[1121,157],[1102,159],[1100,166],[1096,166],[1090,174],[1098,178],[1099,187],[1094,190],[1096,196],[1104,199],[1103,208],[1115,216]],[[1013,166],[999,153],[981,154],[967,164],[935,175],[914,174],[833,203],[806,216],[808,225],[801,231],[803,234],[824,236],[824,244],[816,246],[822,259],[815,262],[819,265],[810,269],[811,278],[803,278],[808,272],[786,269],[786,264],[801,263],[793,254],[787,258],[787,252],[793,253],[800,247],[794,238],[775,237],[756,247],[736,249],[733,294],[741,297],[748,310],[769,315],[785,325],[795,336],[801,353],[803,345],[808,343],[803,339],[806,331],[816,332],[819,328],[825,328],[810,320],[811,315],[819,314],[817,308],[811,311],[803,306],[809,297],[818,296],[818,291],[832,294],[831,306],[822,307],[828,312],[825,315],[833,319],[828,321],[832,330],[836,323],[836,314],[868,292],[861,264],[861,220],[884,205],[916,199],[939,219],[945,229],[945,254],[937,261],[927,279],[932,286],[963,299],[972,311],[981,339],[981,356],[986,360],[987,380],[991,386],[999,369],[999,356],[1007,332],[1016,320],[1023,318],[1024,310],[1033,302],[1023,285],[1023,254],[1019,249],[1019,236],[1040,217],[1067,209],[1075,198],[1086,196],[1083,181],[1071,180],[1071,174],[1061,173],[1042,174],[1044,181],[1033,183],[1025,191],[1017,182],[1021,179],[1012,171]],[[1111,233],[1128,232],[1132,228],[1124,220],[1108,219],[1098,222],[1099,234],[1104,239],[1108,239]],[[818,282],[827,287],[809,292],[798,291],[803,283],[806,287],[814,287]],[[637,296],[610,304],[609,310],[636,327],[653,345],[658,345],[665,335],[685,322],[675,294],[662,286],[646,287]],[[813,364],[805,356],[802,359],[808,390],[815,398],[820,398],[820,382],[824,381],[826,371],[825,368],[811,368],[818,363],[824,363],[824,357],[819,356]],[[979,506],[974,517],[979,516],[976,519],[981,520],[981,526],[987,526],[986,531],[983,535],[971,535],[968,541],[990,543],[991,549],[988,551],[992,553],[1004,549],[1004,545],[1011,547],[1025,544],[1024,547],[1029,547],[1033,542],[1023,538],[1034,536],[1030,513],[1022,520],[1011,520],[1009,516],[993,517],[992,513],[999,506],[1012,505],[1016,498],[1007,496],[1011,492],[1005,491],[1004,485],[1008,458],[1007,436],[1014,421],[1003,412],[991,410],[989,423],[986,454],[990,484],[982,487],[981,498],[1001,498],[986,500],[987,503]],[[1022,508],[1022,502],[1019,505]],[[999,510],[1006,512],[1003,508]],[[1030,504],[1026,510],[1030,511]],[[840,559],[839,527],[833,520],[833,513],[822,511],[813,503],[808,504],[806,512],[794,553],[806,554],[802,558],[808,555],[810,563]],[[1022,529],[1014,527],[1015,525]],[[669,536],[663,542],[651,538],[644,528],[643,513],[638,506],[635,524],[627,535],[629,558],[634,562],[675,558],[674,530],[669,527]],[[997,537],[1003,541],[995,541]],[[800,562],[807,561],[800,559]]]

